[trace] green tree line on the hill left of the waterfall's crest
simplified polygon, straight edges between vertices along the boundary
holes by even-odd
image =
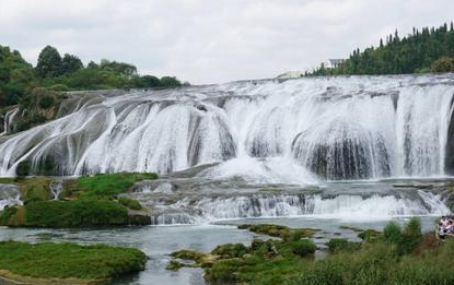
[[[46,46],[36,67],[26,62],[18,50],[0,45],[0,107],[15,105],[35,87],[54,91],[177,87],[174,76],[161,79],[140,75],[132,64],[103,59],[86,67],[79,57]]]

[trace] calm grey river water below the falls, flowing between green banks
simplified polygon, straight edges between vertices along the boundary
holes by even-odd
[[[438,218],[436,218],[438,219]],[[242,224],[279,224],[291,228],[319,228],[311,239],[316,244],[314,259],[324,258],[327,252],[325,244],[333,238],[348,238],[361,241],[358,233],[340,226],[352,228],[373,228],[382,231],[385,221],[342,221],[334,218],[281,217],[252,218],[225,222],[228,225],[191,225],[191,226],[121,226],[91,228],[24,228],[0,227],[0,240],[14,239],[25,242],[77,242],[81,245],[105,244],[113,247],[137,248],[143,251],[150,260],[145,270],[138,274],[115,278],[112,285],[206,285],[203,270],[199,268],[182,268],[178,271],[165,270],[173,260],[171,252],[189,249],[199,252],[211,252],[217,246],[224,244],[243,244],[249,247],[257,238],[267,239],[261,234],[238,229]],[[394,221],[403,225],[408,218]],[[421,217],[423,231],[433,228],[435,218]],[[323,250],[321,250],[323,249]],[[11,283],[1,283],[12,285]]]

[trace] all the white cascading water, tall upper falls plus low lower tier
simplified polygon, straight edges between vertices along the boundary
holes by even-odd
[[[453,94],[454,74],[69,94],[59,119],[0,140],[0,176],[15,176],[21,164],[38,175],[187,169],[187,185],[167,179],[141,190],[156,224],[445,214],[441,199],[422,191],[319,194],[305,187],[445,176],[454,169]],[[292,190],[254,192],[275,185]]]

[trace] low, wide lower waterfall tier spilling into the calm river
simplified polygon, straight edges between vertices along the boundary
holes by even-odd
[[[251,217],[310,216],[345,219],[389,218],[394,216],[444,215],[450,210],[438,195],[418,191],[412,197],[372,194],[253,194],[184,198],[152,207],[154,224],[200,224]]]

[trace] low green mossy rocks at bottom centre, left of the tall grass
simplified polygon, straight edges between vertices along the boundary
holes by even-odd
[[[289,231],[309,233],[309,229],[290,229],[278,225],[242,225],[238,228],[270,233],[275,237],[295,237]],[[312,230],[315,231],[315,230]],[[309,239],[254,239],[249,247],[242,244],[226,244],[216,247],[210,253],[179,250],[171,256],[193,260],[195,263],[172,260],[167,269],[183,266],[202,268],[205,278],[213,284],[281,284],[282,278],[295,277],[299,266],[315,252],[315,244]]]

